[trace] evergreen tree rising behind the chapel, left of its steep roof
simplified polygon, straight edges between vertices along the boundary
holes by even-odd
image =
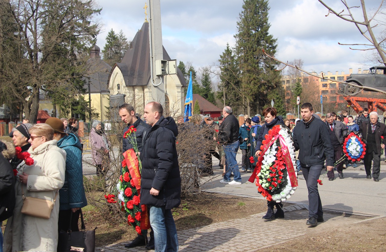
[[[129,43],[123,31],[120,30],[119,34],[115,34],[111,29],[107,34],[105,47],[102,49],[103,60],[113,66],[116,62],[121,62],[128,48]]]

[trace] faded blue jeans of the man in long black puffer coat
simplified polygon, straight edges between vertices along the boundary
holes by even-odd
[[[154,245],[156,252],[178,251],[176,224],[170,209],[165,207],[150,207],[150,225],[154,230]]]

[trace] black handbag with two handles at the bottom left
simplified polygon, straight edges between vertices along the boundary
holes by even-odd
[[[67,232],[59,233],[58,251],[59,252],[95,252],[95,229],[86,231],[85,221],[83,220],[82,209],[80,209],[80,219],[82,222],[81,231],[71,231],[71,211],[70,225]]]

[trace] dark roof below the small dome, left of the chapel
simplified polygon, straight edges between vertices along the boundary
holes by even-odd
[[[87,60],[89,65],[89,75],[85,78],[84,88],[88,92],[88,79],[90,77],[90,92],[108,92],[107,81],[110,75],[111,66],[104,62],[101,58],[95,57]]]

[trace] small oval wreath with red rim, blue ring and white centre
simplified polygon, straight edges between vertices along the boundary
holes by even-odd
[[[366,144],[354,132],[351,132],[343,142],[343,152],[348,160],[361,161],[366,154]]]

